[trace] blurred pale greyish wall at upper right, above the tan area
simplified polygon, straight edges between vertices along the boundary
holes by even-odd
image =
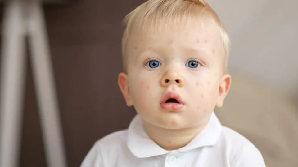
[[[298,94],[298,1],[207,0],[231,36],[229,67]]]

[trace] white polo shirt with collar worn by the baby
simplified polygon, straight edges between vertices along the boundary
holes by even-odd
[[[141,118],[128,130],[98,140],[81,167],[264,167],[259,150],[245,137],[220,124],[212,113],[205,129],[185,147],[167,151],[146,134]]]

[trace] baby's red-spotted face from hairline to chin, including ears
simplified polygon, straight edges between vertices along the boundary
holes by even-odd
[[[230,76],[222,72],[224,49],[215,27],[136,33],[127,50],[128,73],[120,74],[127,79],[126,95],[125,86],[122,92],[146,123],[167,129],[199,126],[222,105]]]

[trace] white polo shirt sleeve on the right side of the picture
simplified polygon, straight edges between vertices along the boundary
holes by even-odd
[[[252,144],[246,144],[242,152],[231,163],[232,167],[266,167],[260,151]]]

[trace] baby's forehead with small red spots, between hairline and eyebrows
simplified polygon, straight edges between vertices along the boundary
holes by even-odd
[[[199,47],[213,45],[222,49],[222,41],[215,22],[210,17],[172,20],[165,24],[157,21],[147,21],[146,24],[136,27],[128,37],[127,51],[140,47],[162,47],[164,44],[190,45]],[[173,45],[174,45],[173,44]],[[200,48],[201,49],[201,48]]]

